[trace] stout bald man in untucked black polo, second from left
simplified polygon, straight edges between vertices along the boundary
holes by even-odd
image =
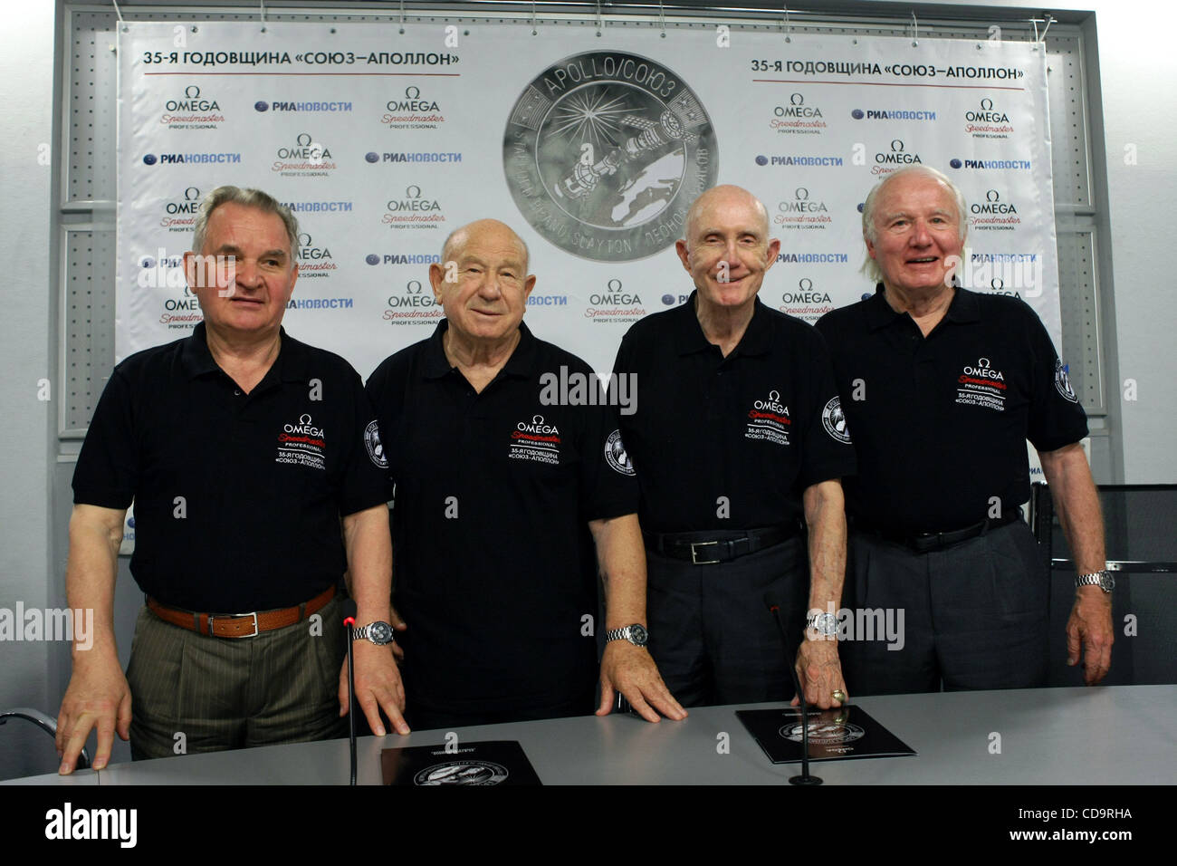
[[[552,399],[592,369],[523,324],[536,277],[506,225],[458,229],[430,265],[445,318],[368,379],[387,430],[406,715],[445,728],[592,712],[597,564],[607,637],[598,714],[621,692],[686,714],[645,648],[645,562],[616,412]]]

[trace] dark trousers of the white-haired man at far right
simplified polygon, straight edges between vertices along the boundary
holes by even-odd
[[[851,695],[1029,688],[1046,680],[1050,575],[1022,521],[917,554],[853,533],[843,604],[902,612],[899,640],[839,646]],[[900,648],[902,646],[902,648]]]

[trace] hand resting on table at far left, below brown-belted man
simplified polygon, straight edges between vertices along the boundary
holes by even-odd
[[[111,760],[114,732],[124,740],[131,738],[131,687],[122,674],[118,656],[87,655],[94,650],[74,654],[73,675],[58,713],[58,773],[68,775],[78,765],[78,755],[93,728],[98,728],[98,751],[94,769],[104,769]]]

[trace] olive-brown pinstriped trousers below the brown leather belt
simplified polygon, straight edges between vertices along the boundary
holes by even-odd
[[[338,689],[347,648],[338,596],[319,614],[321,623],[224,639],[164,622],[144,607],[127,666],[132,756],[345,735]]]

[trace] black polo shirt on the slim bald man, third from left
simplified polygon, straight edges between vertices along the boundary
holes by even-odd
[[[805,488],[855,470],[825,341],[757,299],[725,358],[703,333],[696,295],[634,324],[617,353],[614,371],[637,376],[621,436],[641,485],[641,528],[794,523]]]

